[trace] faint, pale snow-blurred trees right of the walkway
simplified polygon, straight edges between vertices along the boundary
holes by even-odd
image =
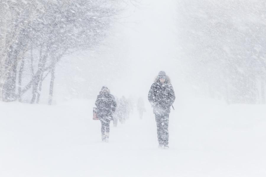
[[[195,88],[228,103],[265,104],[266,3],[179,0],[179,52]]]

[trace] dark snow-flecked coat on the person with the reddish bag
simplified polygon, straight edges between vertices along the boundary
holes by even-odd
[[[95,105],[99,119],[112,118],[112,114],[116,110],[116,100],[109,92],[100,91]]]

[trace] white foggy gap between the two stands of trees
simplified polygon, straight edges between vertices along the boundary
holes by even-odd
[[[146,100],[161,70],[178,84],[184,78],[180,71],[184,68],[177,59],[176,5],[175,1],[129,3],[113,25],[111,36],[98,49],[59,63],[57,82],[71,89],[62,95],[58,85],[58,98],[95,98],[106,85],[116,96],[142,96]],[[70,69],[64,72],[67,66]]]

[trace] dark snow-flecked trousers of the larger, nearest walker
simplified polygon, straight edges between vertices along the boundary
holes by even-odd
[[[157,136],[160,145],[168,145],[168,122],[169,113],[155,114],[155,120],[157,124]]]

